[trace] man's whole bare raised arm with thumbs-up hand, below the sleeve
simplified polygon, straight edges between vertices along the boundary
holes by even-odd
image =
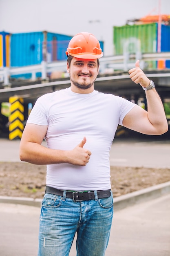
[[[135,68],[129,70],[130,78],[134,83],[139,83],[146,88],[150,85],[150,80],[139,67],[139,61]],[[162,101],[155,90],[147,90],[146,99],[148,111],[139,106],[135,106],[124,117],[123,125],[131,130],[147,135],[161,135],[168,130],[168,123],[164,112]]]

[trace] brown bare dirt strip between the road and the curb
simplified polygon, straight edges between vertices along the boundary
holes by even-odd
[[[110,180],[115,197],[170,181],[170,168],[111,167]],[[42,198],[46,166],[0,162],[0,195]]]

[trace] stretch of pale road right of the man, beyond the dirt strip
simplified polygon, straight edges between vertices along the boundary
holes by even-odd
[[[110,165],[170,168],[170,140],[116,139],[110,150]]]

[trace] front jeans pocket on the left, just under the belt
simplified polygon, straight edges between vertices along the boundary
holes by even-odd
[[[57,195],[46,193],[42,200],[42,207],[45,208],[56,208],[62,204],[62,198]]]

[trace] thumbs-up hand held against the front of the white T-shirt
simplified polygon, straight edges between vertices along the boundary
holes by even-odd
[[[83,148],[86,143],[86,137],[73,150],[68,151],[68,163],[79,166],[86,166],[89,162],[91,151]]]

